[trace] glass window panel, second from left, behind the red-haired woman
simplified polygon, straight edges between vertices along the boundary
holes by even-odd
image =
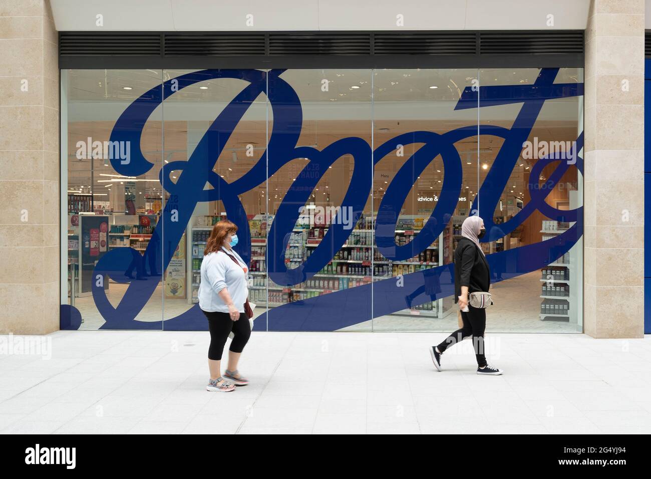
[[[165,70],[165,329],[207,327],[197,292],[214,224],[238,226],[249,298],[264,315],[266,90],[264,70]],[[173,213],[178,210],[178,222]],[[169,224],[168,224],[169,222]],[[169,248],[169,250],[167,249]],[[194,307],[193,307],[194,305]],[[266,317],[255,327],[266,329]]]

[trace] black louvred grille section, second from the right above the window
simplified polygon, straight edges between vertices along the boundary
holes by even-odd
[[[376,33],[376,55],[462,55],[477,53],[477,34],[473,32],[406,34]]]

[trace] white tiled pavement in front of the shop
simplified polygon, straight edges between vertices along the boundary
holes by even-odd
[[[445,336],[254,332],[251,385],[217,393],[207,332],[57,332],[49,359],[0,354],[0,432],[651,432],[649,336],[490,334],[501,377],[475,374],[470,341],[435,371]]]

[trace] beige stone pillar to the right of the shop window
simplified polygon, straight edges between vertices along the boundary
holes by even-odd
[[[644,1],[592,0],[585,32],[583,327],[642,338]]]

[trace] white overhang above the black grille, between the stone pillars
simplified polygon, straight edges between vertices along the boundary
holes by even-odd
[[[51,0],[51,7],[59,31],[585,30],[590,0]]]

